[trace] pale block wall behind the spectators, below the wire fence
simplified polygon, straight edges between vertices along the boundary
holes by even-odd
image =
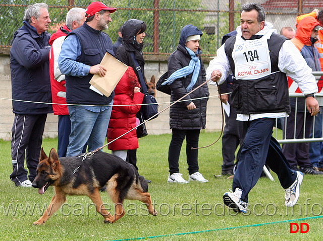
[[[210,59],[205,58],[203,62],[208,66]],[[150,81],[152,75],[156,80],[167,71],[167,57],[145,56],[145,75]],[[11,99],[11,78],[10,78],[10,58],[9,49],[0,49],[0,139],[11,139],[11,127],[14,119]],[[217,95],[217,88],[209,85],[210,96]],[[159,110],[163,110],[169,105],[170,96],[161,92],[156,92],[156,100]],[[44,137],[57,136],[57,116],[48,114]],[[146,123],[149,134],[171,133],[169,129],[169,110],[161,113],[157,118]],[[222,116],[220,101],[217,96],[211,97],[207,105],[206,131],[220,130],[222,126]]]

